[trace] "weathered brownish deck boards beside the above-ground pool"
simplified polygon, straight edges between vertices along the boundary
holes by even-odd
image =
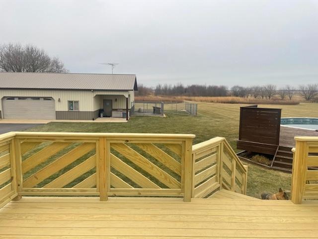
[[[318,136],[318,132],[314,130],[280,127],[279,145],[284,147],[295,147],[295,136]]]

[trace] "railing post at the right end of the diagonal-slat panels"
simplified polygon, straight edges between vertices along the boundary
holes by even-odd
[[[192,160],[192,138],[185,139],[185,154],[184,154],[184,202],[191,202],[193,196],[193,160]]]

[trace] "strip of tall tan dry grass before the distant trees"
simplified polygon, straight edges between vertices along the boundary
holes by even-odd
[[[298,105],[300,102],[296,100],[279,100],[277,98],[267,99],[254,99],[242,97],[203,97],[203,96],[135,96],[135,101],[162,101],[162,102],[208,102],[208,103],[222,103],[222,104],[263,104],[263,105]]]

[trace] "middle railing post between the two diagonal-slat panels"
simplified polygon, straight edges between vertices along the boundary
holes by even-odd
[[[106,184],[106,137],[100,137],[97,147],[98,157],[98,184],[99,184],[99,200],[107,201],[107,184]]]

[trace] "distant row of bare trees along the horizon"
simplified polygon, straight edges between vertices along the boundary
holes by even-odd
[[[318,96],[318,85],[300,85],[299,88],[295,88],[290,85],[286,85],[282,88],[277,88],[276,85],[268,84],[264,86],[252,86],[243,87],[239,85],[233,86],[228,89],[227,86],[216,85],[189,85],[184,86],[181,83],[175,85],[158,84],[156,87],[147,87],[143,84],[138,86],[139,96],[210,96],[210,97],[222,97],[222,96],[235,96],[235,97],[253,97],[255,99],[272,99],[274,96],[278,96],[281,100],[292,100],[296,94],[301,95],[306,101],[311,101]]]

